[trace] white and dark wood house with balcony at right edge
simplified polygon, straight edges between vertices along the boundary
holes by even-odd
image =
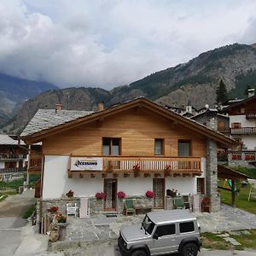
[[[256,96],[254,90],[241,101],[223,108],[230,116],[230,135],[239,145],[229,151],[230,165],[247,166],[256,160]]]

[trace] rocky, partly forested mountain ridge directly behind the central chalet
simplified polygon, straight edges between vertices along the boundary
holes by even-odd
[[[244,97],[247,86],[256,84],[256,45],[231,44],[212,49],[187,63],[109,91],[80,87],[44,92],[26,101],[6,129],[22,129],[38,108],[55,108],[58,102],[64,109],[95,110],[100,101],[108,107],[145,96],[167,105],[182,106],[189,102],[195,108],[202,108],[206,103],[212,106],[220,79],[224,80],[230,97]]]

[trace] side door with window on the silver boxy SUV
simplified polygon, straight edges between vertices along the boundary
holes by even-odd
[[[160,255],[177,251],[177,227],[175,224],[158,225],[150,243],[151,255]]]

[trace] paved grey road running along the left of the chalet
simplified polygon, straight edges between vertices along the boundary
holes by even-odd
[[[0,202],[0,255],[15,255],[23,238],[22,227],[27,223],[21,216],[34,201],[33,191],[29,190]]]

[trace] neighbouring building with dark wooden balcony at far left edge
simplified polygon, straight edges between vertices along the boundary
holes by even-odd
[[[24,177],[27,166],[27,147],[23,142],[0,134],[0,181]]]

